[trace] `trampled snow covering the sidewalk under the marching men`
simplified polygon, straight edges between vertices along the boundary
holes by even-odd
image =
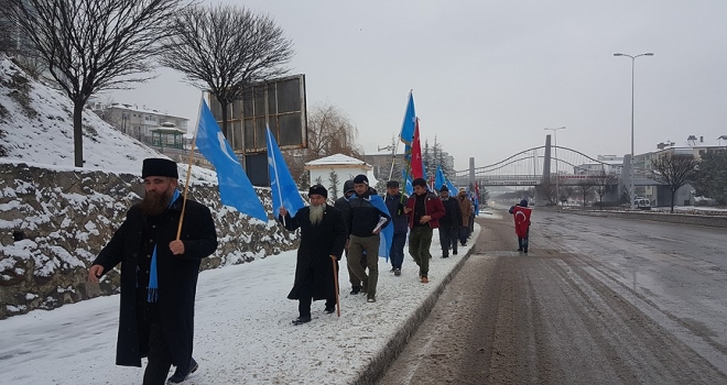
[[[473,240],[479,234],[476,226]],[[341,265],[340,318],[313,302],[313,320],[293,326],[295,252],[202,272],[197,286],[194,356],[199,371],[185,384],[352,383],[409,317],[469,251],[442,258],[432,244],[430,284],[405,252],[402,275],[379,260],[377,302],[351,296]],[[405,249],[406,250],[406,249]],[[343,262],[345,263],[345,258]],[[143,369],[116,366],[119,296],[0,321],[0,378],[10,384],[139,384]]]

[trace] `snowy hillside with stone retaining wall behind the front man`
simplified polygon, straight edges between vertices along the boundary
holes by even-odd
[[[0,58],[0,320],[117,293],[118,272],[88,285],[90,262],[139,201],[142,160],[162,156],[84,113],[74,167],[72,103]],[[180,164],[184,183],[187,167]],[[256,188],[271,211],[270,188]],[[219,246],[202,268],[252,262],[297,245],[296,233],[223,206],[215,172],[193,166],[189,197],[213,211]]]

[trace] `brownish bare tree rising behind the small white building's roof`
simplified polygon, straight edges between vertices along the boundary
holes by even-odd
[[[315,106],[308,114],[308,154],[312,160],[333,154],[361,157],[358,130],[333,106]]]

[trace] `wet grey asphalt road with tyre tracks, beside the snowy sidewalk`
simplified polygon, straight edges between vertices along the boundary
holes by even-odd
[[[727,229],[504,211],[381,384],[727,384]]]

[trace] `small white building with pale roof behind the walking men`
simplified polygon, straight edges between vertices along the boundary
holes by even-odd
[[[322,184],[328,189],[328,199],[335,200],[344,194],[344,183],[354,179],[359,174],[369,178],[369,186],[375,187],[377,179],[373,176],[373,167],[355,157],[344,154],[335,154],[305,164],[310,173],[311,185]],[[336,186],[333,180],[337,179]]]

